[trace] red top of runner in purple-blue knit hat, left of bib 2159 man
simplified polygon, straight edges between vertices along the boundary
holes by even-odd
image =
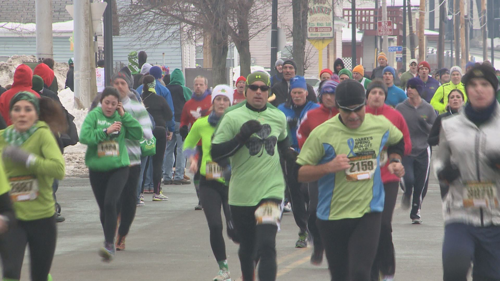
[[[338,114],[337,108],[330,109],[324,106],[324,104],[321,104],[321,106],[307,111],[297,128],[298,147],[302,149],[302,145],[304,145],[304,142],[311,131],[336,114]]]

